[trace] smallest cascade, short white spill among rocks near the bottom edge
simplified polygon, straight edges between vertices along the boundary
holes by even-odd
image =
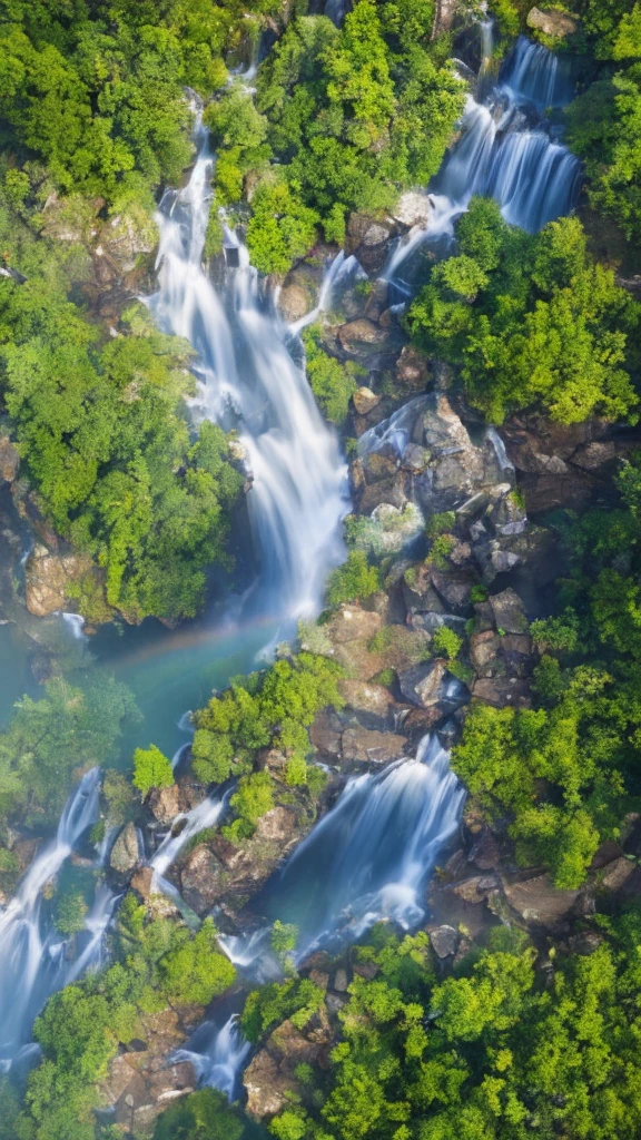
[[[242,999],[235,1004],[242,1007]],[[229,1101],[236,1100],[238,1078],[245,1066],[251,1044],[243,1036],[238,1013],[234,1012],[222,1025],[205,1021],[198,1026],[186,1049],[179,1049],[173,1061],[190,1061],[198,1083],[218,1089]]]

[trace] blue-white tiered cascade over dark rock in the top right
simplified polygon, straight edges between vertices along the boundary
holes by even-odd
[[[490,25],[481,25],[481,38],[485,64],[492,54]],[[430,185],[431,218],[399,242],[384,279],[408,294],[397,276],[401,266],[425,242],[452,236],[455,219],[474,195],[495,198],[505,220],[529,233],[569,213],[582,169],[544,112],[563,106],[571,95],[558,57],[521,36],[482,103],[468,96],[459,140]]]

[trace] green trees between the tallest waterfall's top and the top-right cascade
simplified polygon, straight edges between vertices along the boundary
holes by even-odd
[[[436,173],[464,88],[447,41],[430,42],[433,15],[415,0],[360,0],[336,28],[301,11],[259,68],[255,108],[234,88],[209,108],[218,201],[259,178],[248,230],[259,269],[286,271],[320,223],[341,242],[349,211],[384,210]]]

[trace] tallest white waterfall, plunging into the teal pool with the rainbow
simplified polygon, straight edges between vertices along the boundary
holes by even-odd
[[[160,290],[149,306],[159,325],[189,340],[198,355],[196,418],[236,429],[248,457],[261,563],[250,604],[291,620],[317,612],[327,572],[344,557],[347,466],[287,351],[287,329],[261,299],[246,247],[230,229],[225,287],[217,290],[203,271],[213,158],[206,133],[196,133],[201,148],[189,182],[168,192],[157,215]]]

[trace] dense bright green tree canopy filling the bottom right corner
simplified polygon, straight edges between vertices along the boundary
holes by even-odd
[[[518,931],[497,928],[486,950],[438,980],[425,934],[399,940],[379,928],[359,954],[376,976],[349,985],[328,1072],[300,1066],[302,1091],[292,1092],[271,1133],[277,1140],[636,1134],[640,918],[601,926],[607,939],[587,956],[555,959],[545,983]]]

